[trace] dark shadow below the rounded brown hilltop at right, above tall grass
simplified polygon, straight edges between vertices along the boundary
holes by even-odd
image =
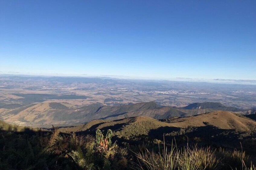
[[[160,127],[149,131],[149,137],[163,141],[165,134],[165,142],[170,144],[175,141],[178,146],[200,145],[223,148],[237,148],[247,150],[248,153],[256,153],[255,132],[241,132],[233,129],[219,129],[215,126],[206,125],[193,128],[175,128],[175,127]]]

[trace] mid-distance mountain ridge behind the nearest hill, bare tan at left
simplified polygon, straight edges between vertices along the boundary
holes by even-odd
[[[170,117],[193,116],[214,110],[232,111],[240,114],[255,113],[255,109],[240,110],[213,102],[194,103],[184,108],[177,108],[160,106],[152,101],[121,106],[105,106],[101,103],[95,103],[83,107],[67,103],[39,103],[18,109],[0,109],[0,115],[7,122],[40,127],[40,125],[52,124],[60,126],[77,125],[94,119],[117,120],[136,116],[167,119]]]

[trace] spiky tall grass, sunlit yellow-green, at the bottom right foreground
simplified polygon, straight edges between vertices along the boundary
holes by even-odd
[[[136,169],[149,170],[256,170],[252,164],[253,158],[246,155],[243,151],[219,151],[212,150],[210,147],[183,147],[178,149],[176,145],[165,147],[160,152],[148,150],[141,147],[135,153],[137,158]]]

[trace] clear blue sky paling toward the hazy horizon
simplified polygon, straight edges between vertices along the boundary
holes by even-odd
[[[0,74],[256,79],[256,1],[0,1]]]

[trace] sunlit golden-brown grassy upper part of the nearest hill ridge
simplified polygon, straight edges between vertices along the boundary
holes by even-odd
[[[222,130],[238,132],[255,132],[256,122],[241,115],[227,112],[214,111],[197,116],[185,118],[168,118],[162,121],[147,116],[138,116],[114,121],[93,120],[85,125],[70,128],[61,128],[66,132],[90,133],[97,128],[102,130],[112,129],[116,131],[118,138],[131,139],[141,135],[168,134],[189,128],[213,127]],[[154,133],[153,133],[154,132]]]

